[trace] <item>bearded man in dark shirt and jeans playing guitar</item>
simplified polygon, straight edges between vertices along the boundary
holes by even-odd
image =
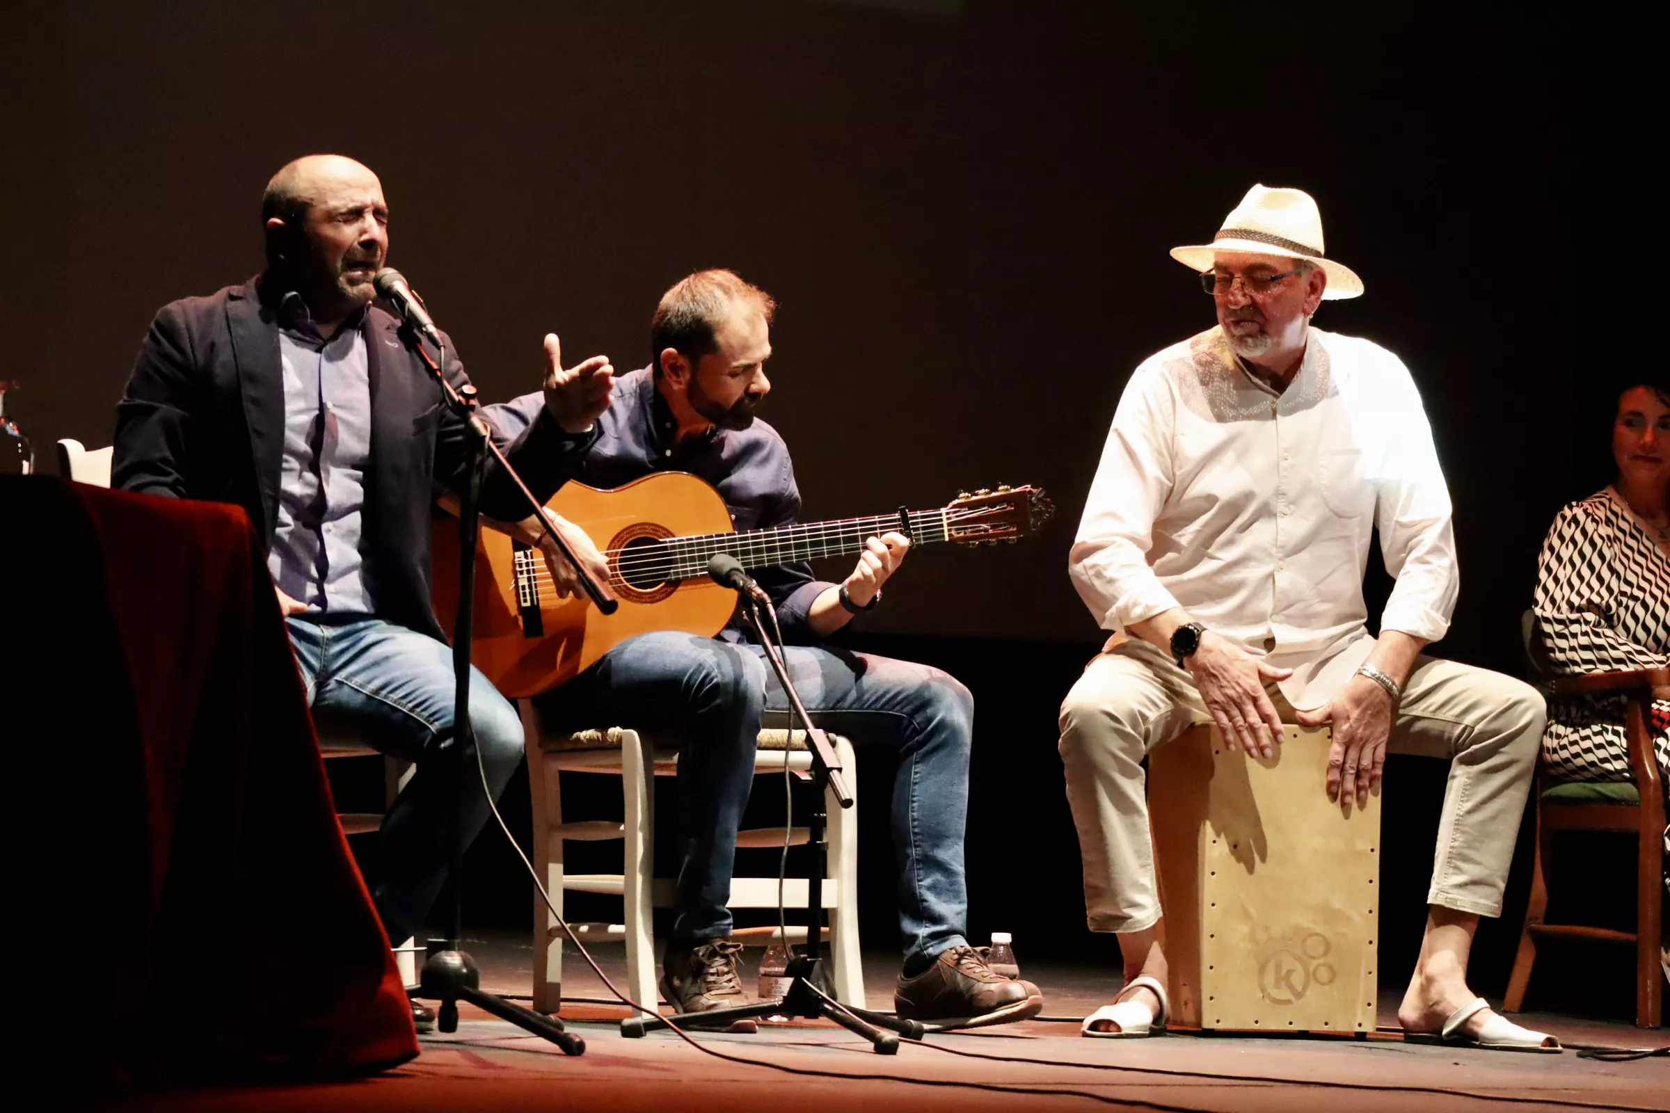
[[[793,524],[800,491],[788,447],[755,419],[772,390],[765,364],[773,309],[765,290],[730,270],[703,270],[673,285],[650,324],[655,362],[616,379],[615,404],[598,421],[598,441],[576,479],[620,487],[656,471],[691,472],[718,489],[736,529]],[[533,394],[489,407],[486,415],[514,439],[538,417],[539,404]],[[601,577],[605,566],[584,534],[564,532]],[[992,973],[964,934],[969,689],[924,664],[818,644],[880,604],[883,584],[910,549],[898,532],[865,546],[840,584],[813,579],[805,562],[753,569],[753,576],[777,606],[790,674],[818,724],[855,746],[897,754],[892,831],[905,946],[898,1015],[965,1026],[1035,1016],[1044,1008],[1037,986]],[[686,1013],[748,1003],[740,946],[726,941],[731,916],[725,904],[760,721],[788,709],[765,651],[736,621],[716,637],[638,634],[536,701],[546,721],[573,729],[608,724],[680,739],[685,856],[661,991]]]

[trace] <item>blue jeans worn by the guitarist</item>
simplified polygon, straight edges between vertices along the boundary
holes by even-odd
[[[964,943],[969,689],[908,661],[808,646],[790,646],[785,657],[818,726],[853,746],[897,751],[892,829],[907,963]],[[691,634],[640,634],[538,701],[551,721],[574,729],[626,726],[678,739],[683,863],[673,936],[730,934],[725,904],[757,736],[762,721],[788,726],[788,699],[765,651]]]

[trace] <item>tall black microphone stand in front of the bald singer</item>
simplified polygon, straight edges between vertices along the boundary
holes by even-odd
[[[424,364],[428,364],[429,370],[436,377],[436,382],[441,384],[441,397],[444,404],[464,421],[464,429],[468,431],[466,442],[469,446],[464,491],[459,499],[461,506],[458,512],[458,617],[453,624],[453,723],[458,768],[454,776],[456,806],[453,809],[451,823],[453,899],[451,908],[448,909],[449,934],[446,939],[439,941],[439,944],[434,939],[429,941],[428,958],[424,959],[423,975],[419,976],[418,993],[414,996],[441,1001],[439,1016],[436,1018],[436,1026],[441,1031],[458,1031],[458,1003],[469,1001],[476,1008],[491,1013],[499,1020],[508,1020],[518,1028],[549,1040],[568,1055],[583,1055],[586,1041],[564,1031],[563,1021],[556,1016],[546,1016],[544,1013],[536,1013],[529,1008],[523,1008],[521,1005],[511,1005],[499,996],[483,991],[481,973],[476,969],[476,959],[464,953],[461,946],[464,936],[464,778],[469,774],[471,766],[476,764],[476,729],[469,719],[469,642],[474,626],[476,539],[481,534],[481,474],[486,466],[488,452],[493,454],[493,457],[499,462],[499,467],[504,469],[504,474],[509,476],[516,484],[516,489],[521,491],[523,497],[528,501],[529,511],[539,522],[543,536],[551,537],[556,542],[558,551],[568,559],[569,566],[573,566],[579,577],[579,586],[584,587],[591,602],[595,602],[605,614],[611,614],[618,604],[603,596],[603,591],[591,581],[591,576],[586,574],[584,566],[574,559],[574,552],[568,547],[563,536],[551,529],[539,499],[533,496],[528,484],[524,484],[521,476],[516,474],[516,469],[511,467],[511,462],[504,459],[504,452],[493,442],[493,436],[488,431],[486,422],[481,421],[479,414],[476,414],[476,387],[464,384],[463,387],[454,389],[453,384],[446,380],[446,349],[436,344],[439,359],[433,359],[428,349],[424,349],[423,340],[409,325],[401,329],[401,339],[406,340],[406,345],[416,352]],[[488,786],[483,784],[481,791],[486,793]]]

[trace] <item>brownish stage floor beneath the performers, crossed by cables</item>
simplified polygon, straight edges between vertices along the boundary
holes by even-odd
[[[529,991],[524,936],[469,939],[483,986]],[[748,969],[760,951],[745,953]],[[598,948],[611,978],[623,975],[620,946]],[[1605,1063],[1565,1055],[1511,1055],[1404,1045],[1391,1035],[1356,1040],[1171,1035],[1154,1040],[1082,1040],[1077,1016],[1104,1003],[1117,975],[1084,966],[1027,963],[1045,993],[1044,1018],[980,1033],[930,1036],[880,1056],[833,1025],[765,1025],[757,1035],[701,1035],[716,1051],[803,1071],[721,1061],[673,1033],[623,1040],[621,1006],[574,1000],[569,1030],[586,1053],[568,1058],[511,1025],[464,1010],[459,1031],[423,1038],[423,1055],[371,1080],[326,1086],[264,1086],[154,1093],[107,1103],[109,1110],[1670,1110],[1670,1060]],[[603,998],[590,969],[571,968],[566,995]],[[868,954],[870,1003],[892,1006],[890,954]],[[566,998],[564,998],[566,1000]],[[1396,996],[1381,996],[1381,1025],[1394,1025]],[[1062,1018],[1062,1020],[1050,1020]],[[1665,1030],[1526,1015],[1523,1023],[1563,1043],[1660,1046]],[[1009,1056],[1034,1063],[1000,1063]],[[1050,1060],[1052,1063],[1037,1063]],[[867,1076],[867,1078],[865,1078]],[[908,1081],[907,1081],[908,1080]],[[977,1090],[945,1083],[984,1083]],[[1044,1093],[1054,1091],[1054,1093]],[[1077,1091],[1077,1093],[1062,1093]]]

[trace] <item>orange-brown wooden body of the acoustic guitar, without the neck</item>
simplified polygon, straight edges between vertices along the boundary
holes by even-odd
[[[730,511],[718,491],[686,472],[651,472],[615,491],[579,482],[563,484],[548,502],[579,526],[603,552],[625,549],[633,539],[683,537],[733,532]],[[610,557],[611,586],[620,609],[603,614],[584,596],[558,599],[544,574],[544,557],[531,554],[539,574],[539,634],[529,636],[528,611],[518,596],[518,546],[494,529],[476,542],[474,664],[506,696],[518,699],[556,687],[590,667],[628,637],[650,631],[683,631],[711,637],[725,629],[736,609],[736,592],[713,581],[686,579],[660,586],[630,586]],[[458,521],[436,521],[433,539],[433,604],[441,627],[451,631],[458,614]],[[528,561],[529,557],[521,557]],[[526,581],[528,576],[523,576]]]

